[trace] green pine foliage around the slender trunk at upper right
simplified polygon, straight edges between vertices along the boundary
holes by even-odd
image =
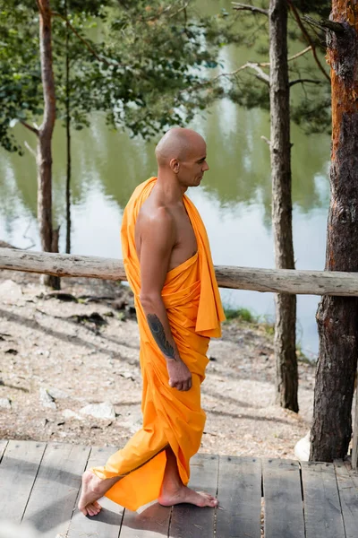
[[[263,0],[253,4],[268,9],[269,2]],[[328,18],[331,9],[330,0],[294,0],[293,4],[299,11],[301,19],[303,13],[310,13],[316,19]],[[239,31],[243,45],[250,50],[251,62],[260,63],[262,56],[266,56],[264,62],[268,63],[268,17],[251,12],[238,13]],[[316,29],[312,29],[303,19],[302,22],[316,47],[320,63],[324,66],[325,36],[320,32],[317,33]],[[297,48],[294,48],[289,56],[293,56],[308,45],[291,12],[288,19],[288,38],[291,48],[293,43],[297,43]],[[269,74],[268,65],[262,66],[261,69],[265,74]],[[330,83],[313,60],[311,52],[289,62],[289,75],[291,82],[304,81],[295,83],[292,87],[291,119],[307,134],[328,133],[331,127]],[[268,110],[268,84],[259,79],[257,71],[251,67],[237,70],[237,73],[230,77],[229,82],[226,82],[225,95],[245,108],[260,107]],[[320,83],[307,82],[307,79]]]

